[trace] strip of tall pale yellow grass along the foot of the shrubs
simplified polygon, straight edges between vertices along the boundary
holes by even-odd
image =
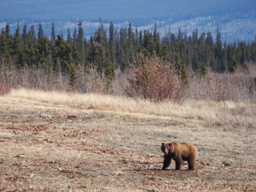
[[[99,95],[93,93],[65,93],[16,89],[8,96],[65,105],[71,108],[94,109],[128,113],[144,113],[157,116],[179,117],[203,120],[210,123],[240,122],[256,126],[256,104],[245,102],[212,102],[186,100],[182,104],[172,102],[151,102],[124,96]]]

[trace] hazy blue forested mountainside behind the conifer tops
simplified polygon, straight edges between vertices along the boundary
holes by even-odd
[[[256,37],[256,0],[0,0],[0,27],[11,24],[12,33],[17,22],[22,28],[39,22],[44,35],[50,36],[51,23],[55,33],[67,34],[81,21],[86,37],[99,26],[99,17],[108,28],[112,21],[116,28],[128,27],[129,22],[138,29],[154,28],[161,35],[165,31],[177,33],[198,29],[215,35],[217,26],[222,41],[252,41]]]

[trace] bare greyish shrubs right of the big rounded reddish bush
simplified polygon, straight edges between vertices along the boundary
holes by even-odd
[[[252,87],[255,77],[256,65],[250,62],[235,73],[209,72],[205,77],[192,75],[186,98],[256,102],[256,89]]]

